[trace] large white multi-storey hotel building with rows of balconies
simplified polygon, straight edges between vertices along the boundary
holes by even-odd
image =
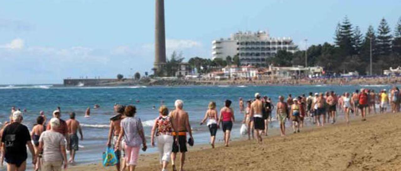
[[[275,56],[278,50],[296,52],[297,46],[291,38],[271,38],[267,32],[237,32],[231,38],[212,42],[212,59],[239,56],[241,65],[266,64],[266,59]]]

